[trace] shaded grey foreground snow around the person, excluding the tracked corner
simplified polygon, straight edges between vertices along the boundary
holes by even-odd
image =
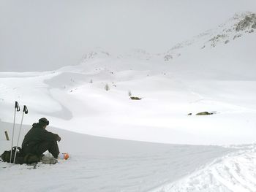
[[[0,127],[10,133],[12,123]],[[29,128],[23,127],[22,139]],[[55,165],[38,164],[37,169],[0,162],[1,191],[149,191],[234,151],[92,137],[53,127],[48,131],[61,136],[60,150],[71,157]],[[10,141],[0,134],[0,151],[8,148]]]

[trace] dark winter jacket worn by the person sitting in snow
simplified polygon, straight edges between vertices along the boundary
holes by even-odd
[[[58,139],[58,134],[53,134],[45,130],[45,128],[42,128],[42,125],[39,123],[34,123],[33,127],[24,137],[22,148],[26,146],[35,146],[44,141],[57,141]]]

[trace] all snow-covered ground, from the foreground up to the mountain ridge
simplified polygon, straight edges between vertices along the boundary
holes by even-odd
[[[40,165],[39,179],[1,163],[2,189],[28,190],[11,185],[15,175],[32,178],[31,191],[255,191],[255,30],[255,13],[244,12],[166,53],[97,48],[56,71],[1,72],[0,150],[19,101],[29,108],[22,137],[48,118],[73,157]]]

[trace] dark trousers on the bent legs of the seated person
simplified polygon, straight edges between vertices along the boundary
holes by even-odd
[[[45,153],[47,150],[53,155],[54,158],[58,158],[59,146],[56,141],[44,141],[38,144],[31,144],[23,147],[24,153],[32,153],[38,156],[42,156],[42,153]]]

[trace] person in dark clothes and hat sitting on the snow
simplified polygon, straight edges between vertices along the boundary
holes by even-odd
[[[42,153],[48,150],[54,158],[58,158],[59,146],[58,142],[61,137],[58,134],[53,134],[46,131],[46,126],[49,125],[49,120],[40,118],[38,123],[34,123],[32,128],[26,134],[22,142],[22,150],[25,154],[33,154],[42,157]]]

